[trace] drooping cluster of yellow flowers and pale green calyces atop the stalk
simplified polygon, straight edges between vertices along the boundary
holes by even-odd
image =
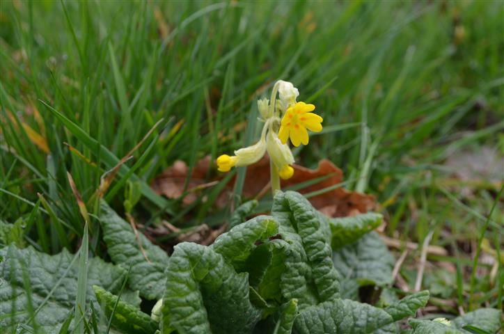
[[[279,95],[278,104],[276,95]],[[283,180],[294,175],[294,157],[287,144],[288,139],[292,145],[308,144],[308,130],[320,132],[322,130],[322,117],[312,113],[313,104],[296,102],[299,91],[290,82],[279,80],[271,93],[271,101],[262,99],[258,101],[258,109],[265,122],[262,128],[260,141],[246,148],[235,151],[235,155],[222,154],[217,158],[218,170],[228,172],[233,167],[248,166],[261,159],[268,152],[272,168]],[[283,116],[280,118],[280,116]]]

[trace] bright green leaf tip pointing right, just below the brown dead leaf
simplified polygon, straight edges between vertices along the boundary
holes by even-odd
[[[377,228],[383,216],[381,214],[368,213],[345,218],[330,218],[331,246],[333,249],[352,244],[364,234]]]

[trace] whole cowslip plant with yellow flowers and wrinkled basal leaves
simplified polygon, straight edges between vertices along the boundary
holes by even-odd
[[[1,333],[498,331],[495,309],[450,321],[405,321],[426,305],[429,292],[397,299],[395,261],[373,231],[381,215],[328,218],[300,193],[281,191],[279,177],[294,173],[288,141],[306,145],[308,130],[322,129],[315,106],[297,102],[298,95],[292,84],[278,81],[271,99],[258,102],[264,122],[258,143],[216,161],[226,172],[268,152],[274,191],[268,215],[246,220],[255,202],[245,202],[212,245],[182,242],[168,256],[102,200],[100,227],[112,263],[88,259],[86,233],[76,255],[14,243],[0,248]],[[6,242],[12,231],[3,230]],[[372,299],[360,293],[370,288]]]

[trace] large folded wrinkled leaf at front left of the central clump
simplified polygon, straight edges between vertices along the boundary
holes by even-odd
[[[209,247],[184,242],[168,262],[162,333],[250,333],[261,312],[249,300],[249,274]]]

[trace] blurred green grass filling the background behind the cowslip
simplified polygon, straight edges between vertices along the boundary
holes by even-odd
[[[328,158],[375,194],[389,237],[433,231],[448,255],[430,260],[455,264],[425,283],[442,306],[471,308],[473,289],[475,305],[501,305],[501,261],[468,273],[480,235],[503,256],[503,15],[502,1],[1,1],[0,218],[22,226],[18,242],[76,250],[67,173],[93,216],[100,177],[141,143],[107,201],[124,211],[134,182],[137,221],[220,221],[221,184],[187,216],[149,184],[176,159],[191,169],[253,140],[255,100],[284,79],[324,117],[299,164]]]

